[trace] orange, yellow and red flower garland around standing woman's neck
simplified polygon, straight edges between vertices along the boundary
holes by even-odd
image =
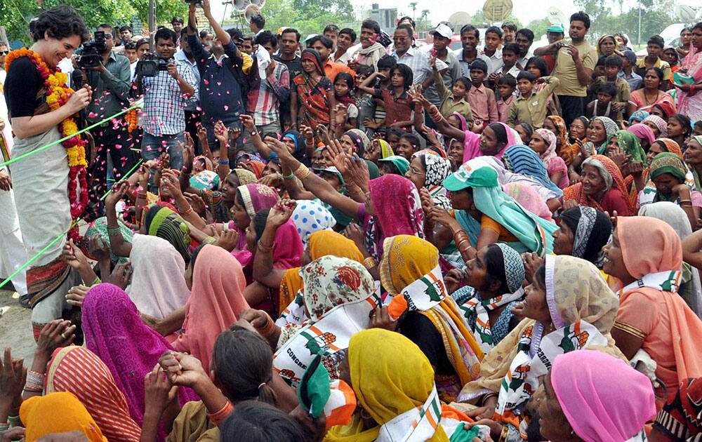
[[[22,48],[17,51],[12,51],[5,58],[5,69],[9,72],[10,65],[18,58],[27,57],[37,66],[37,71],[41,79],[44,80],[44,88],[46,89],[46,104],[52,111],[65,105],[74,91],[66,86],[68,76],[61,72],[58,67],[48,67],[41,56],[31,49]],[[66,149],[68,155],[68,198],[71,203],[71,217],[77,220],[88,205],[88,182],[86,173],[88,163],[86,161],[86,140],[81,140],[77,134],[78,126],[76,124],[76,115],[69,116],[59,124],[59,133],[61,138],[70,137],[64,140],[61,144]],[[73,136],[71,136],[73,135]],[[80,196],[78,195],[80,189]],[[80,235],[78,228],[74,227],[68,233],[69,238],[79,239]]]

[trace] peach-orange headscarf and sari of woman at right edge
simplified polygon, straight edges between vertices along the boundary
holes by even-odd
[[[617,220],[616,233],[624,265],[634,278],[641,279],[644,275],[656,272],[682,270],[680,236],[668,223],[651,217],[621,217]],[[665,312],[670,320],[670,336],[659,339],[673,345],[678,382],[683,382],[688,377],[702,376],[702,356],[696,348],[698,342],[702,342],[702,321],[677,293],[650,287],[626,291],[621,296],[620,304],[636,292],[662,297],[665,302]],[[665,368],[659,366],[658,370]]]

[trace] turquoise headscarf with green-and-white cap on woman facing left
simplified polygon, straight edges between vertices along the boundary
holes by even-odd
[[[508,243],[509,246],[519,253],[536,252],[542,256],[551,253],[553,248],[553,237],[551,235],[558,229],[557,225],[529,213],[522,206],[519,206],[519,203],[505,194],[498,183],[497,172],[493,168],[484,166],[467,170],[461,166],[461,169],[453,173],[449,178],[446,178],[446,180],[451,180],[454,184],[458,180],[463,182],[464,188],[472,187],[475,207],[483,215],[491,217],[519,239],[518,243]],[[460,174],[460,176],[453,177],[453,175],[457,174]],[[444,180],[444,186],[446,186],[446,180]],[[456,210],[455,214],[456,220],[461,223],[461,227],[464,227],[469,239],[472,241],[471,236],[475,236],[475,241],[477,242],[475,228],[477,226],[477,232],[479,233],[479,222],[468,215],[465,210]],[[467,218],[470,218],[470,220]],[[463,222],[468,222],[463,224],[462,220]]]

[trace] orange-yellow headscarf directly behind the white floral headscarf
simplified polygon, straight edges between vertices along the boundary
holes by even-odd
[[[311,234],[307,240],[307,247],[310,249],[312,261],[322,256],[334,255],[363,264],[363,254],[358,250],[356,243],[332,230],[320,230]],[[288,269],[280,281],[279,313],[293,302],[300,288],[303,288],[300,267]]]

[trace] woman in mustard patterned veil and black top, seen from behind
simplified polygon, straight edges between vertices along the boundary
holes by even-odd
[[[397,296],[438,265],[439,250],[432,243],[411,235],[391,236],[383,243],[380,283]],[[461,387],[477,379],[483,352],[453,298],[446,296],[430,309],[406,312],[397,322],[380,323],[383,316],[388,317],[383,311],[373,316],[371,327],[397,328],[419,346],[436,372],[442,401],[455,401]]]

